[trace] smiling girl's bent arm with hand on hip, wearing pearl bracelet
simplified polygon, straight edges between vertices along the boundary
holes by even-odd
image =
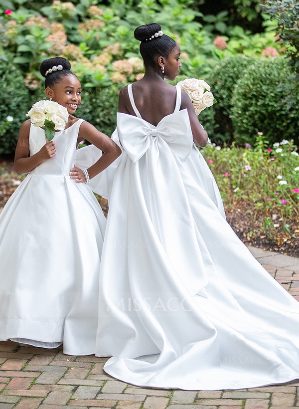
[[[88,142],[92,143],[98,149],[103,151],[101,158],[90,168],[87,169],[89,178],[92,179],[104,169],[108,168],[122,153],[121,148],[109,138],[109,136],[98,131],[93,125],[89,122],[82,122],[79,129],[79,140],[81,138],[86,139]],[[71,179],[74,179],[75,182],[85,182],[85,177],[81,169],[74,167],[70,171]]]

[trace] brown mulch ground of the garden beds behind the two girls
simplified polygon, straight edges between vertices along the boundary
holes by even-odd
[[[24,175],[17,175],[13,171],[13,160],[11,158],[0,158],[0,211],[23,179]],[[107,216],[107,201],[98,196],[97,199]],[[233,206],[230,205],[230,208],[226,207],[225,211],[227,221],[243,243],[299,257],[298,238],[294,234],[292,237],[291,234],[281,232],[279,238],[273,241],[263,231],[265,214],[252,212],[246,202],[237,202]],[[272,216],[272,214],[269,214],[269,216]],[[299,220],[288,220],[288,223],[292,225],[293,231],[295,229],[299,233]]]

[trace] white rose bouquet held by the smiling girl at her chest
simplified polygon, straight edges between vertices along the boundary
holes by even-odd
[[[33,126],[45,131],[49,142],[54,138],[55,130],[63,131],[68,121],[67,109],[54,101],[35,102],[26,116],[30,117]]]

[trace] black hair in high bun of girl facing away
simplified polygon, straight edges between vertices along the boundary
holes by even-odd
[[[161,26],[157,23],[140,25],[134,31],[134,36],[141,41],[140,53],[144,60],[145,67],[155,67],[154,57],[161,56],[168,58],[171,51],[174,50],[177,43],[168,35],[163,34],[161,37],[149,38],[158,32]]]

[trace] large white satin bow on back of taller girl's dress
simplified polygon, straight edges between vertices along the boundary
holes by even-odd
[[[188,158],[192,149],[192,131],[186,109],[165,116],[156,127],[142,118],[118,112],[117,129],[120,142],[133,162],[143,157],[154,138],[162,138],[182,161]]]

